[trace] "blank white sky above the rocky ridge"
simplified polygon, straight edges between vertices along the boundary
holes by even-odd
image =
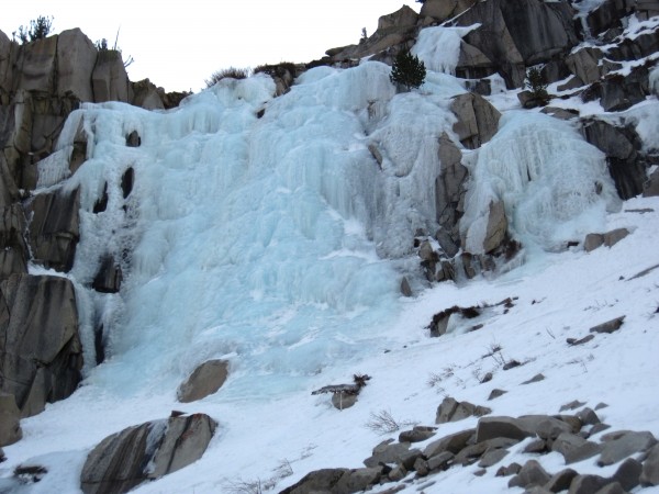
[[[325,50],[372,34],[380,15],[414,0],[252,0],[159,3],[114,0],[22,0],[3,9],[0,30],[9,37],[38,15],[52,15],[55,33],[80,27],[92,42],[116,32],[131,80],[149,78],[168,91],[199,90],[222,68],[279,61],[311,61]]]

